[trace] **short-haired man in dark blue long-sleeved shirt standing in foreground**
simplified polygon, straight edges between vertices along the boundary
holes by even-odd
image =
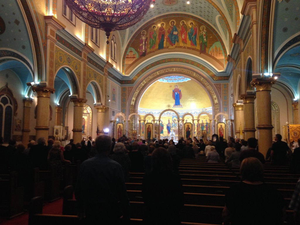
[[[75,188],[79,217],[86,224],[129,223],[129,200],[122,166],[108,157],[111,137],[97,136],[97,154],[82,162]],[[122,209],[122,210],[121,210]]]

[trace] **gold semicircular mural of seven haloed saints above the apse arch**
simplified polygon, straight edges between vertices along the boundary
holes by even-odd
[[[125,74],[140,60],[166,52],[196,55],[211,64],[226,65],[227,52],[217,32],[197,18],[165,17],[149,22],[132,36],[123,56]],[[201,55],[203,54],[203,55]]]

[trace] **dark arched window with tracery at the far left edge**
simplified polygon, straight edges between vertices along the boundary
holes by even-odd
[[[9,96],[0,95],[0,136],[4,142],[10,140],[13,118],[13,104]]]

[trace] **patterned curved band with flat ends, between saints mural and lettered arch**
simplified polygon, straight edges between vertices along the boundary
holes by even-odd
[[[211,70],[209,70],[206,66],[195,62],[190,59],[184,59],[184,58],[167,58],[167,59],[161,59],[156,62],[151,63],[150,65],[142,68],[131,80],[122,80],[120,83],[121,84],[134,84],[137,79],[145,73],[147,70],[151,69],[152,67],[157,67],[158,65],[165,64],[165,63],[170,63],[170,62],[179,62],[179,63],[185,63],[185,64],[190,64],[193,65],[199,70],[204,71],[208,76],[210,76],[213,80],[228,80],[229,76],[216,76]]]

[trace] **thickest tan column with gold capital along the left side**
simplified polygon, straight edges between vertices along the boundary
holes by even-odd
[[[37,112],[36,112],[36,126],[35,126],[35,140],[44,137],[46,140],[49,135],[49,103],[50,95],[54,93],[55,89],[50,87],[32,87],[32,90],[37,93]]]

